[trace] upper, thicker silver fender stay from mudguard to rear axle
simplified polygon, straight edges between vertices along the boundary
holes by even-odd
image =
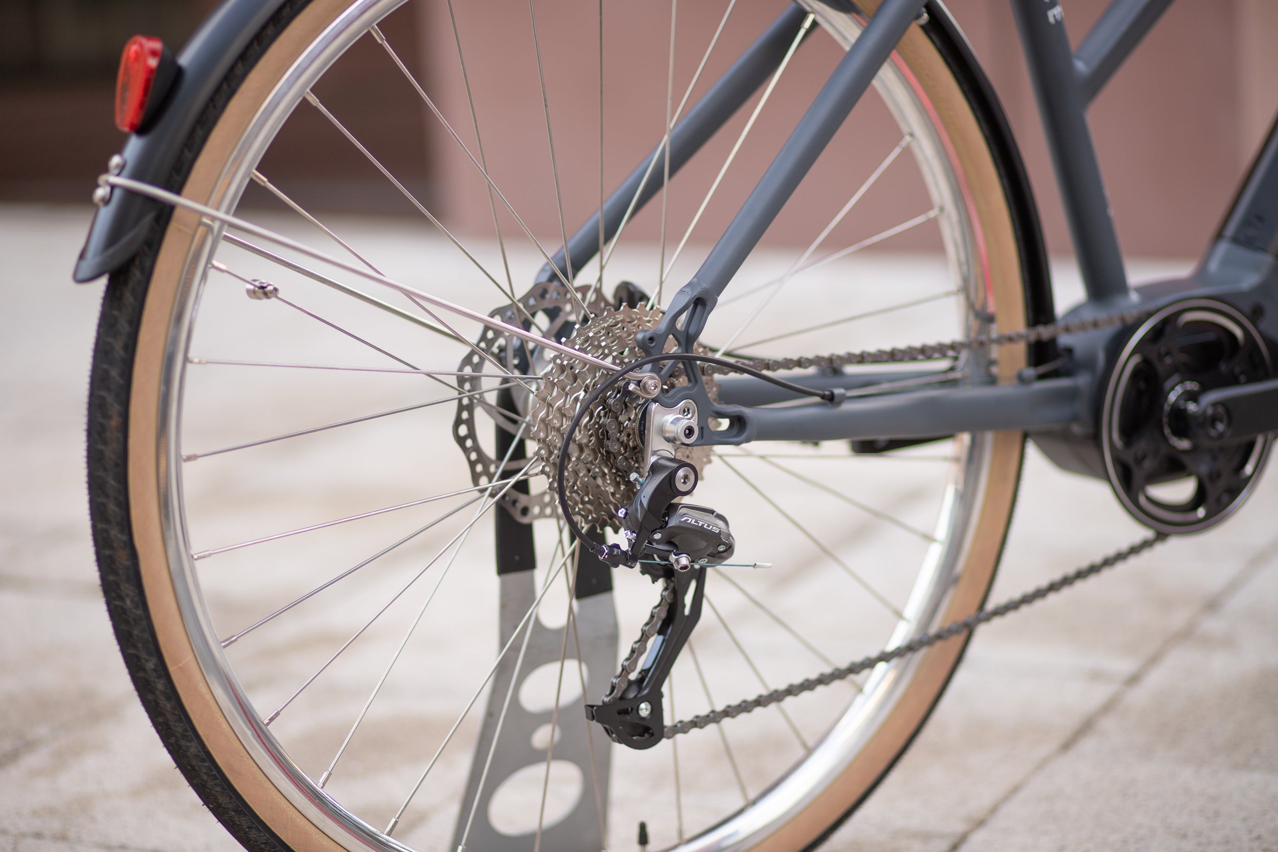
[[[374,282],[381,284],[383,286],[387,286],[387,287],[390,287],[392,290],[399,290],[400,293],[412,294],[412,295],[414,295],[414,296],[417,296],[417,298],[419,298],[419,299],[422,299],[422,300],[424,300],[424,301],[427,301],[427,303],[429,303],[429,304],[432,304],[432,305],[435,305],[437,308],[441,308],[443,310],[449,310],[449,312],[455,313],[455,314],[460,314],[460,316],[463,316],[463,317],[465,317],[468,319],[478,322],[482,326],[487,326],[487,327],[497,331],[497,332],[511,335],[514,337],[519,337],[520,340],[525,340],[525,341],[528,341],[530,344],[542,346],[542,347],[544,347],[544,349],[547,349],[550,351],[560,353],[561,355],[567,355],[569,358],[574,358],[576,360],[581,360],[581,361],[585,361],[588,364],[594,364],[596,367],[602,367],[603,369],[607,369],[607,370],[616,370],[617,369],[617,367],[615,364],[611,364],[611,363],[608,363],[608,361],[606,361],[606,360],[603,360],[601,358],[596,358],[593,355],[588,355],[585,353],[580,353],[580,351],[573,349],[571,346],[567,346],[567,345],[561,344],[558,341],[551,340],[548,337],[542,337],[541,335],[535,335],[535,333],[533,333],[530,331],[527,331],[527,330],[519,327],[519,326],[512,326],[512,324],[502,322],[500,319],[495,319],[493,317],[489,317],[487,314],[479,313],[478,310],[472,310],[469,308],[464,308],[464,307],[461,307],[459,304],[449,301],[447,299],[442,299],[440,296],[436,296],[433,294],[426,293],[423,290],[418,290],[417,287],[412,287],[412,286],[409,286],[406,284],[401,284],[400,281],[395,281],[394,278],[389,278],[386,276],[377,275],[376,272],[369,272],[369,271],[366,271],[366,270],[363,270],[360,267],[353,266],[350,263],[345,263],[345,262],[339,261],[337,258],[335,258],[335,257],[332,257],[330,254],[326,254],[323,252],[313,249],[309,245],[305,245],[303,243],[298,243],[296,240],[291,240],[291,239],[289,239],[289,238],[286,238],[286,236],[284,236],[281,234],[276,234],[275,231],[271,231],[270,229],[259,227],[257,225],[253,225],[252,222],[244,221],[243,218],[239,218],[236,216],[231,216],[229,213],[224,213],[221,211],[213,209],[212,207],[208,207],[207,204],[201,204],[201,203],[193,202],[193,201],[190,201],[188,198],[183,198],[181,195],[171,193],[171,192],[169,192],[166,189],[160,189],[158,186],[152,186],[151,184],[143,183],[141,180],[133,180],[130,178],[120,178],[119,175],[105,175],[102,178],[102,183],[105,183],[109,186],[119,186],[119,188],[125,189],[128,192],[133,192],[133,193],[137,193],[139,195],[144,195],[146,198],[153,198],[156,201],[164,202],[166,204],[171,204],[174,207],[181,207],[184,209],[194,211],[194,212],[197,212],[197,213],[199,213],[199,215],[202,215],[206,218],[210,218],[212,221],[224,222],[224,224],[230,225],[231,227],[234,227],[236,230],[244,231],[245,234],[252,234],[252,235],[258,236],[261,239],[270,240],[271,243],[275,243],[277,245],[284,245],[284,247],[286,247],[286,248],[289,248],[289,249],[291,249],[294,252],[298,252],[299,254],[305,254],[307,257],[316,258],[316,259],[322,261],[325,263],[328,263],[328,264],[331,264],[331,266],[334,266],[336,268],[344,270],[345,272],[350,272],[351,275],[358,275],[362,278],[367,278],[369,281],[374,281]]]

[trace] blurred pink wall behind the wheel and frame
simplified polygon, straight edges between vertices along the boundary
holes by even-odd
[[[679,5],[676,101],[725,5],[700,0],[684,0]],[[1063,3],[1075,43],[1104,5],[1105,0]],[[527,222],[539,236],[557,236],[556,206],[547,202],[553,199],[553,183],[527,5],[469,0],[455,6],[464,40],[466,33],[484,33],[483,41],[464,43],[493,178],[518,209],[533,211]],[[767,0],[739,0],[704,79],[717,77],[730,57],[772,20],[780,4]],[[583,164],[598,169],[596,9],[594,0],[555,0],[537,5],[561,175]],[[1008,3],[956,0],[951,10],[1008,114],[1042,208],[1049,249],[1068,253],[1068,232]],[[604,141],[606,184],[619,180],[659,139],[668,15],[668,3],[610,0],[604,4],[606,86],[617,87],[604,105],[610,125]],[[432,91],[440,92],[441,109],[470,143],[473,132],[447,10],[441,4],[423,4],[419,22],[424,74]],[[1090,120],[1125,253],[1191,257],[1201,250],[1278,105],[1274,43],[1278,43],[1278,4],[1273,0],[1182,0],[1171,8],[1102,91],[1091,107]],[[564,61],[565,56],[573,61]],[[735,208],[734,202],[753,188],[833,61],[837,61],[837,51],[824,37],[810,40],[799,51],[782,83],[785,92],[778,88],[766,107],[694,239],[711,241],[721,232]],[[625,72],[616,72],[617,65]],[[749,109],[743,110],[728,132],[686,167],[685,171],[705,172],[702,185],[717,171]],[[624,119],[619,119],[619,114]],[[455,143],[442,135],[438,125],[428,124],[428,134],[432,134],[431,171],[436,176],[437,203],[461,230],[491,232],[482,179]],[[819,229],[828,221],[828,211],[837,209],[847,198],[849,185],[855,188],[897,137],[884,110],[859,107],[823,158],[828,166],[832,157],[838,157],[851,183],[817,181],[818,185],[812,185],[814,181],[808,181],[768,239],[792,243]],[[919,188],[901,181],[900,175],[905,171],[887,172],[875,186],[873,206],[881,213],[887,208],[904,218],[919,212],[923,203]],[[575,184],[565,189],[569,231],[594,209],[597,190],[597,180],[592,186]],[[676,236],[699,199],[700,193],[693,188],[682,193],[672,190],[670,221]],[[851,231],[858,230],[855,216],[849,226]],[[504,227],[518,226],[504,221]],[[635,224],[635,230],[648,238],[654,236],[658,227],[659,211],[654,213],[653,209]],[[934,238],[920,229],[919,234],[896,238],[892,245],[914,248],[928,239]]]

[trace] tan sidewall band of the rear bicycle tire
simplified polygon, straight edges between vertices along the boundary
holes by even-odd
[[[861,3],[863,6],[877,4]],[[216,206],[226,190],[224,166],[244,129],[285,69],[305,50],[345,6],[343,0],[314,0],[266,51],[244,84],[231,97],[194,162],[183,195]],[[919,91],[930,102],[947,137],[956,171],[966,185],[969,215],[979,229],[979,261],[997,307],[998,330],[1024,327],[1025,303],[1017,244],[999,181],[978,121],[941,55],[918,27],[898,49]],[[143,309],[129,401],[129,498],[133,538],[147,607],[165,664],[192,724],[239,796],[286,844],[299,852],[336,852],[341,847],[313,825],[267,778],[240,742],[225,717],[196,659],[188,627],[179,608],[174,576],[164,540],[162,508],[166,442],[160,434],[166,347],[178,295],[188,278],[198,275],[190,258],[207,239],[198,215],[178,209],[164,235]],[[999,351],[999,373],[1010,376],[1024,365],[1024,351]],[[988,478],[976,512],[975,534],[966,565],[952,590],[942,621],[962,618],[978,609],[994,576],[1016,483],[1020,476],[1021,433],[996,436]],[[192,625],[192,630],[199,630]],[[962,653],[965,639],[942,643],[923,654],[910,685],[889,720],[823,793],[797,816],[777,825],[757,848],[794,852],[819,841],[855,806],[891,768],[932,710]],[[340,832],[327,826],[330,832]]]

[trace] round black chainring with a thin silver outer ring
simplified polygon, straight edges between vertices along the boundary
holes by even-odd
[[[1260,332],[1222,301],[1178,301],[1141,323],[1114,360],[1100,413],[1105,469],[1127,511],[1163,533],[1195,533],[1238,508],[1272,438],[1222,439],[1223,414],[1197,401],[1272,376]]]

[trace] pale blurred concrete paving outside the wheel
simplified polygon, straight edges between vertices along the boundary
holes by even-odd
[[[0,208],[0,852],[233,849],[151,732],[101,603],[82,436],[101,284],[69,280],[86,225]],[[1062,303],[1075,278],[1059,268]],[[1270,471],[1223,528],[982,628],[826,848],[1278,849],[1275,499]],[[992,598],[1139,535],[1107,485],[1031,450]]]

